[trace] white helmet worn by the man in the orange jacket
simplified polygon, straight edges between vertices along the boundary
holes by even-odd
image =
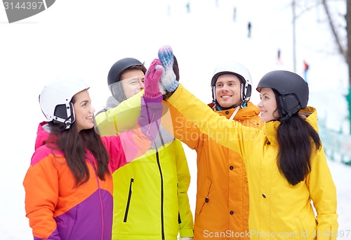
[[[252,78],[249,70],[247,70],[247,68],[240,63],[229,62],[218,65],[215,72],[213,73],[211,80],[213,102],[216,101],[215,88],[217,79],[220,75],[223,74],[232,74],[239,77],[239,80],[241,80],[241,102],[246,103],[249,101],[252,88]]]

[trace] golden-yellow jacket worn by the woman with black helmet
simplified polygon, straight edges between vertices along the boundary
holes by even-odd
[[[237,151],[244,159],[250,195],[247,236],[251,239],[336,239],[336,187],[323,148],[312,151],[311,171],[305,181],[291,186],[277,168],[278,121],[267,122],[262,130],[245,127],[213,113],[182,85],[168,103],[201,132]],[[307,121],[317,129],[317,111],[311,107],[306,110],[312,112]]]

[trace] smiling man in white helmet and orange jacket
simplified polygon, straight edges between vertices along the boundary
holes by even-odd
[[[212,80],[213,102],[218,115],[260,127],[260,111],[249,101],[252,80],[249,70],[236,62],[222,63]],[[174,134],[197,151],[197,203],[195,239],[248,239],[249,189],[245,165],[235,151],[218,144],[187,121],[172,106]]]

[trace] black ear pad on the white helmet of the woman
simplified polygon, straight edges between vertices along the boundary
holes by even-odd
[[[74,115],[72,102],[69,102],[68,104],[60,104],[55,107],[53,123],[63,124],[65,129],[69,129],[70,125],[72,125],[75,120],[76,116]]]

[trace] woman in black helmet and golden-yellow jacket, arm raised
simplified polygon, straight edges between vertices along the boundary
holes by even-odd
[[[170,46],[159,50],[161,83],[171,103],[201,132],[237,151],[249,179],[251,239],[336,239],[336,187],[317,133],[308,86],[293,72],[268,72],[258,83],[262,130],[209,110],[174,80]],[[173,120],[174,121],[174,120]],[[316,213],[314,213],[314,208]],[[220,237],[220,236],[218,236]]]

